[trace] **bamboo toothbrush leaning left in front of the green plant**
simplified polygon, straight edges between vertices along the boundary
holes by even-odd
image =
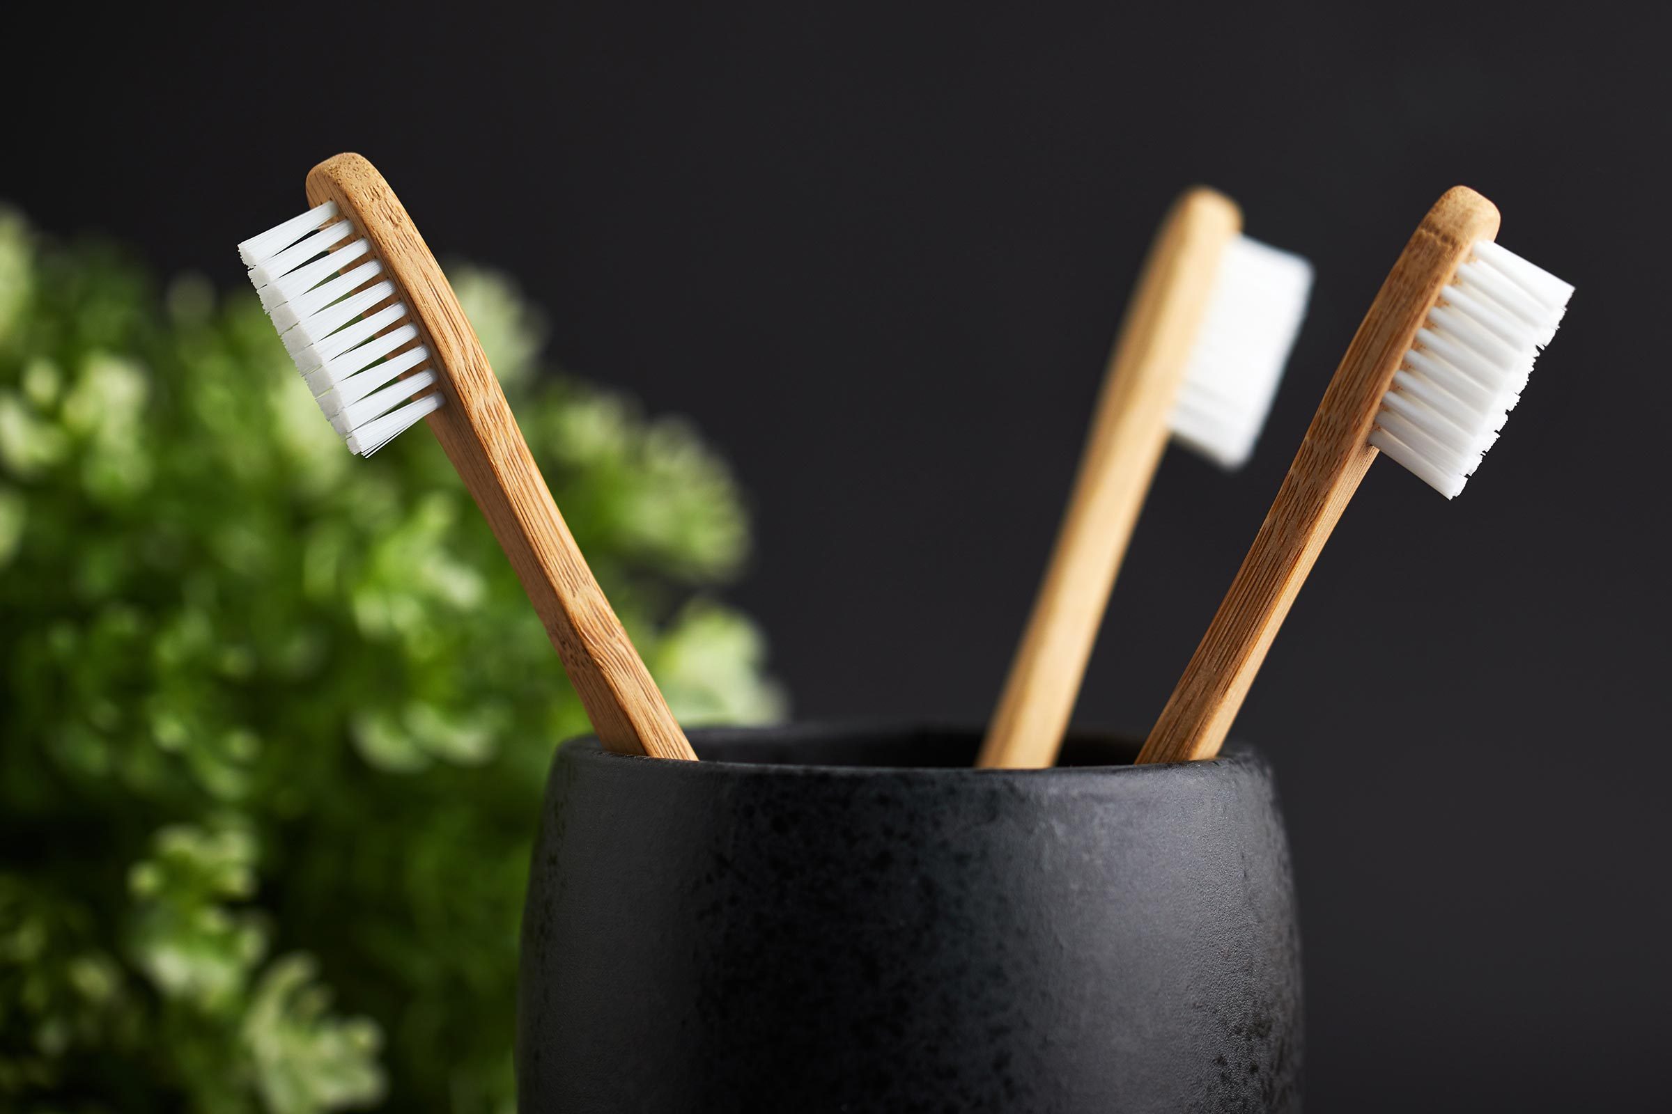
[[[605,747],[696,758],[592,578],[465,311],[359,155],[308,174],[308,212],[239,244],[319,409],[370,456],[428,418],[510,558]]]

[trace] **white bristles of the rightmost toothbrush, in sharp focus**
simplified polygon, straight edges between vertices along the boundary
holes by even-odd
[[[1522,397],[1573,287],[1481,241],[1458,267],[1381,399],[1369,443],[1448,499]]]

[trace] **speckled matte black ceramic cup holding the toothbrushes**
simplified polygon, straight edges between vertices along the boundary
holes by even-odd
[[[973,732],[565,745],[522,1114],[1296,1111],[1289,848],[1254,752],[970,770]]]

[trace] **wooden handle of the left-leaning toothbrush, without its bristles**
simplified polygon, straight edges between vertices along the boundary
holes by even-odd
[[[694,760],[568,533],[451,284],[395,190],[370,162],[346,154],[308,174],[308,199],[334,200],[405,294],[446,396],[430,428],[517,570],[599,738],[619,753]]]

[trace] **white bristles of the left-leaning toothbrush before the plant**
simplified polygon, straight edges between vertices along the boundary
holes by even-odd
[[[371,456],[441,406],[430,349],[383,264],[326,202],[237,246],[319,411]],[[385,302],[390,302],[385,306]],[[381,306],[381,309],[378,309]],[[405,376],[405,377],[401,377]],[[413,399],[420,391],[430,391]]]

